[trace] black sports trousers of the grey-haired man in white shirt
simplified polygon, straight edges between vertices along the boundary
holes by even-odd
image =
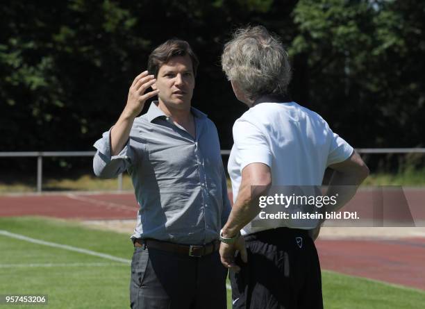
[[[308,231],[275,228],[245,236],[248,263],[231,272],[233,308],[322,309],[322,277]]]

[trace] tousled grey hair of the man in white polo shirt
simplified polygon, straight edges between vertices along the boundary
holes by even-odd
[[[247,26],[233,33],[224,45],[222,68],[250,99],[285,94],[291,80],[288,53],[263,26]]]

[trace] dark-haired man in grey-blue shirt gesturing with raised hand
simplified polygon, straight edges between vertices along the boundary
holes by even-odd
[[[94,144],[94,173],[112,178],[127,170],[140,206],[131,308],[226,308],[217,250],[231,206],[217,128],[191,107],[198,63],[188,42],[157,47],[117,123]]]

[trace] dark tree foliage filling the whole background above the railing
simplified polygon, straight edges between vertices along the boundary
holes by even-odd
[[[231,147],[244,111],[219,66],[238,26],[263,24],[290,52],[292,97],[355,147],[423,145],[421,1],[3,1],[2,151],[88,150],[113,125],[149,52],[170,37],[201,60],[193,104]]]

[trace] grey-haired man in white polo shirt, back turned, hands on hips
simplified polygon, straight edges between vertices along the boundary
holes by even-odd
[[[369,170],[322,117],[285,97],[288,56],[264,27],[236,31],[224,48],[222,67],[235,96],[249,106],[233,126],[228,172],[234,205],[220,233],[222,263],[232,271],[233,308],[323,308],[313,241],[319,220],[304,226],[292,219],[263,224],[253,201],[272,186],[322,185],[330,167],[328,196],[338,185],[349,185],[338,190],[336,205],[324,208],[335,210],[353,197]]]

